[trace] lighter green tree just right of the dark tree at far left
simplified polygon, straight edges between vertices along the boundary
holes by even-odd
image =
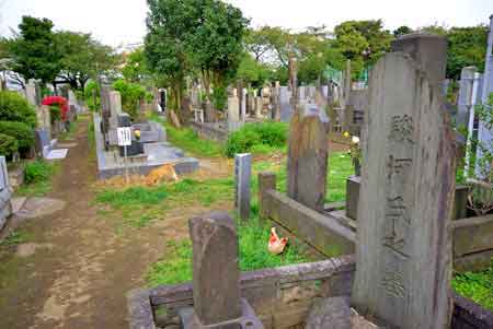
[[[90,78],[114,67],[113,49],[94,40],[90,34],[69,31],[55,35],[57,51],[61,54],[60,82],[67,82],[74,90],[83,90]]]

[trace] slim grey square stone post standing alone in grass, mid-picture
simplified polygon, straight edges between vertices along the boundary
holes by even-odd
[[[234,155],[234,207],[242,220],[250,219],[252,154]]]

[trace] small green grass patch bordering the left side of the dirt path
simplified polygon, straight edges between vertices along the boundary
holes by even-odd
[[[25,183],[15,192],[18,196],[44,197],[53,189],[53,176],[59,164],[36,160],[25,165]]]

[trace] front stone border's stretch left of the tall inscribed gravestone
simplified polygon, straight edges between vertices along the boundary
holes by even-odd
[[[349,295],[354,271],[354,257],[345,256],[244,272],[240,283],[242,295],[253,306],[265,328],[272,328],[274,322],[290,321],[297,325],[308,315],[312,299],[317,297]],[[318,282],[322,283],[318,285]],[[172,317],[177,308],[192,306],[192,284],[134,290],[127,294],[127,301],[129,328],[156,329],[153,309],[164,306]]]

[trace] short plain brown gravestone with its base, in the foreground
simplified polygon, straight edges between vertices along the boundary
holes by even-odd
[[[179,309],[181,328],[263,328],[252,307],[241,298],[234,221],[228,213],[213,212],[190,220],[188,226],[194,307]]]

